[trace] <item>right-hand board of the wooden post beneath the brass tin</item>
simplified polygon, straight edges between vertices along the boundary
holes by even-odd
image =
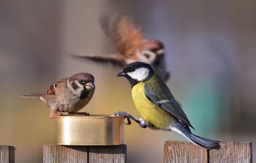
[[[127,163],[126,145],[90,146],[88,163]]]

